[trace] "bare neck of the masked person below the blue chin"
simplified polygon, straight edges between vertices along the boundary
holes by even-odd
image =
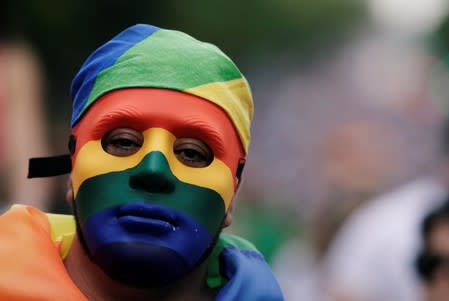
[[[76,286],[89,300],[213,300],[206,285],[207,260],[176,283],[161,288],[134,288],[111,279],[87,256],[76,236],[64,262]]]

